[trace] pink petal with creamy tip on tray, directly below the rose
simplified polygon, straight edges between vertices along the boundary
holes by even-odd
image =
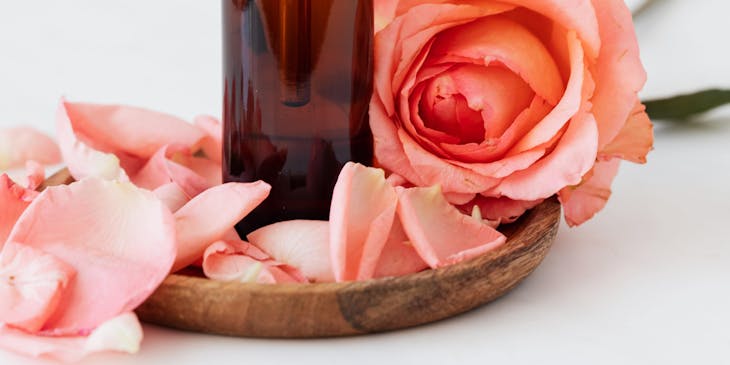
[[[432,268],[455,264],[501,246],[506,238],[464,215],[444,198],[441,188],[397,188],[398,216],[421,258]]]

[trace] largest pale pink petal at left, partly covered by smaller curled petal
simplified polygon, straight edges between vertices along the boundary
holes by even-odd
[[[136,308],[169,273],[175,258],[172,214],[131,183],[85,179],[46,189],[9,241],[47,252],[76,270],[59,310],[43,330],[88,333]]]

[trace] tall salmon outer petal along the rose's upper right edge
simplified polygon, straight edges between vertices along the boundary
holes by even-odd
[[[598,147],[613,141],[639,101],[646,83],[631,11],[622,0],[591,0],[601,32],[601,54],[595,66],[593,114],[598,121]]]

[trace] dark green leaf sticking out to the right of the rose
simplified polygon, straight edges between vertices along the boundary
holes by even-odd
[[[682,120],[730,104],[730,90],[712,89],[666,99],[647,100],[646,112],[652,119]]]

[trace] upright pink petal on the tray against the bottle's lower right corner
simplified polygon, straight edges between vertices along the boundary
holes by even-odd
[[[372,278],[397,205],[383,170],[345,164],[330,209],[330,255],[337,281]]]

